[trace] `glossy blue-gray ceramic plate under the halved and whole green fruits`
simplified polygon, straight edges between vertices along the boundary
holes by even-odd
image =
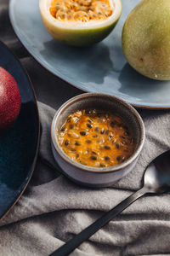
[[[170,81],[144,78],[122,54],[122,26],[139,2],[122,0],[122,17],[116,29],[101,43],[83,49],[59,44],[48,34],[38,0],[11,0],[9,16],[26,49],[59,78],[82,90],[115,95],[142,108],[170,108]]]

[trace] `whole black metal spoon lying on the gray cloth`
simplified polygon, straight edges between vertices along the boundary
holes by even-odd
[[[59,247],[54,253],[49,256],[65,256],[76,249],[82,241],[86,241],[96,231],[101,229],[118,213],[122,212],[129,205],[136,201],[142,195],[148,193],[163,193],[170,191],[170,150],[159,155],[153,160],[144,172],[144,186],[137,192],[133,193],[118,204],[116,207],[106,212],[101,218],[97,219],[94,224],[89,225],[85,230],[82,230],[77,236],[74,236],[70,241],[67,241],[63,246]]]

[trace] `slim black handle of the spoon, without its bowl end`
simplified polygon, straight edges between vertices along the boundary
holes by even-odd
[[[124,201],[119,203],[116,207],[112,208],[109,212],[98,218],[93,224],[89,225],[85,230],[82,230],[79,234],[74,236],[71,240],[67,241],[63,246],[59,247],[54,253],[49,256],[66,256],[76,249],[82,241],[86,241],[90,236],[94,235],[96,231],[101,229],[105,224],[107,224],[112,218],[126,209],[129,205],[136,201],[139,197],[147,193],[146,188],[139,189],[137,192],[133,193],[127,197]]]

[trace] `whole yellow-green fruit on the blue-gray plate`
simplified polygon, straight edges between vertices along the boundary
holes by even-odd
[[[170,80],[170,0],[143,0],[122,29],[128,63],[150,79]]]

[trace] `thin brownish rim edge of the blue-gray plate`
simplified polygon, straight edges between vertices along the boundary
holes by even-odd
[[[22,44],[26,48],[26,50],[33,57],[33,59],[36,60],[43,68],[48,70],[49,73],[52,73],[54,76],[56,76],[59,79],[63,80],[65,83],[71,84],[71,86],[76,87],[78,90],[82,90],[83,92],[95,92],[93,90],[85,90],[83,88],[80,88],[77,84],[73,84],[71,82],[70,78],[68,80],[65,80],[65,78],[64,78],[65,76],[62,73],[60,73],[58,70],[56,72],[54,72],[50,67],[48,67],[48,63],[45,64],[44,61],[41,61],[41,59],[35,53],[31,53],[31,49],[29,48],[29,45],[26,44],[26,42],[21,38],[20,32],[18,32],[17,28],[14,26],[14,15],[13,15],[14,12],[12,11],[12,4],[13,4],[14,1],[16,1],[16,0],[9,0],[9,3],[8,3],[8,17],[9,17],[11,26],[14,29],[15,35],[16,35],[16,37],[20,41],[20,44]],[[83,84],[81,86],[83,87]],[[118,96],[118,97],[120,97],[120,96]],[[122,97],[120,97],[120,98],[122,98]],[[122,99],[122,100],[124,100],[124,101],[128,102],[129,104],[131,104],[134,108],[143,108],[143,109],[152,109],[152,110],[170,109],[170,104],[169,104],[169,106],[150,106],[150,105],[146,105],[146,104],[144,104],[144,105],[136,104],[134,102],[127,101],[125,99]]]

